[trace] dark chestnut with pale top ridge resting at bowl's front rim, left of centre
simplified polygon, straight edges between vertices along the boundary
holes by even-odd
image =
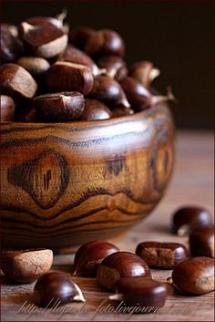
[[[45,94],[33,100],[33,107],[41,119],[68,121],[79,118],[85,108],[85,99],[79,92]]]

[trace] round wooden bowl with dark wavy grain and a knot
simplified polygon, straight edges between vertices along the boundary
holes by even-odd
[[[166,104],[118,119],[2,123],[3,247],[57,249],[125,231],[159,203],[173,159]]]

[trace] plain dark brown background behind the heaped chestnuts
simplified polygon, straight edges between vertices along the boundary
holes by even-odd
[[[113,28],[127,44],[128,64],[152,60],[161,70],[154,82],[163,93],[171,85],[180,128],[213,127],[212,50],[214,1],[4,1],[2,21],[55,16],[68,10],[70,26]]]

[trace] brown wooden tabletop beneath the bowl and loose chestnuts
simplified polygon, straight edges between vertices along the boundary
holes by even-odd
[[[213,134],[209,132],[179,132],[175,171],[164,199],[148,218],[131,229],[121,239],[112,241],[121,250],[134,252],[141,241],[179,242],[188,244],[187,237],[170,232],[171,214],[183,204],[202,205],[213,213]],[[53,269],[71,272],[72,254],[55,256]],[[154,279],[165,282],[170,270],[152,270]],[[168,287],[165,306],[154,314],[111,313],[117,306],[107,300],[108,293],[97,286],[94,278],[73,277],[87,299],[85,304],[72,303],[56,309],[39,309],[34,303],[30,285],[8,285],[2,277],[2,321],[213,321],[214,294],[184,296]]]

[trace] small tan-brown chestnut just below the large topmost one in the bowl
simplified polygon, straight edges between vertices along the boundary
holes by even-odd
[[[16,64],[25,68],[33,76],[33,78],[36,79],[44,76],[48,68],[50,68],[49,62],[42,57],[20,57],[16,61]]]

